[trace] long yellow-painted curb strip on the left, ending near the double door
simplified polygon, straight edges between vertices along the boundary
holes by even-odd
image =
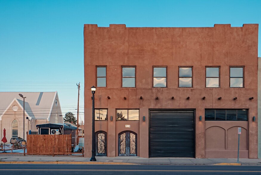
[[[135,165],[135,163],[124,163],[124,162],[59,162],[59,161],[20,161],[20,162],[0,162],[0,164],[100,164],[100,165]]]

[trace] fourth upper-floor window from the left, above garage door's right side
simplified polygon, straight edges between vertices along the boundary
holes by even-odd
[[[179,87],[192,87],[192,66],[179,66]]]

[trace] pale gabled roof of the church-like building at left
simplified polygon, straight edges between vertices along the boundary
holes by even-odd
[[[21,93],[25,98],[19,96]],[[54,99],[57,94],[55,92],[0,92],[0,119],[7,108],[16,99],[23,108],[25,106],[26,113],[35,119],[47,119],[53,107]],[[19,105],[19,106],[20,106]]]

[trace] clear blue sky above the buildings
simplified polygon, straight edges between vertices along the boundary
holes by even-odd
[[[261,24],[260,7],[260,0],[0,0],[0,91],[57,90],[64,114],[76,114],[76,83],[81,82],[80,112],[84,112],[84,24],[242,26]],[[260,44],[258,50],[260,57]]]

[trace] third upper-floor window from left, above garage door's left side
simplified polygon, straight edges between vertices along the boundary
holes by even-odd
[[[153,67],[153,87],[167,87],[167,67]]]

